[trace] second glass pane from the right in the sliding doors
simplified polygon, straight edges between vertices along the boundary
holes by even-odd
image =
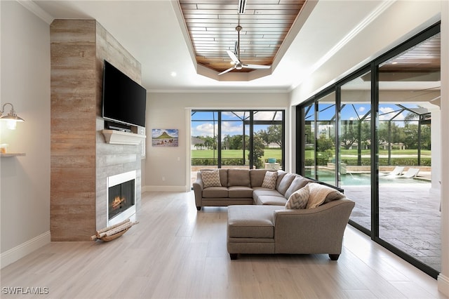
[[[350,219],[371,230],[371,72],[340,89],[339,186],[356,201]]]

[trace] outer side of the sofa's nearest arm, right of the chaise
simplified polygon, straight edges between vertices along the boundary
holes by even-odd
[[[354,206],[344,198],[311,209],[274,211],[276,252],[340,254]]]

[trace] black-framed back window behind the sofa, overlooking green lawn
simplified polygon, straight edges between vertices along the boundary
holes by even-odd
[[[192,179],[201,168],[284,166],[284,110],[192,110]]]

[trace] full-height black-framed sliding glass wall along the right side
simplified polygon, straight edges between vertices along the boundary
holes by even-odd
[[[440,178],[432,159],[441,158],[431,148],[441,135],[439,30],[432,26],[297,109],[298,171],[341,187],[356,202],[351,225],[432,277],[441,271],[441,200],[431,192]]]

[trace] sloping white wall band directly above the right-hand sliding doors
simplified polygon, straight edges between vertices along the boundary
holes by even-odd
[[[443,0],[444,1],[444,0]],[[396,1],[292,91],[292,105],[440,20],[441,1]]]

